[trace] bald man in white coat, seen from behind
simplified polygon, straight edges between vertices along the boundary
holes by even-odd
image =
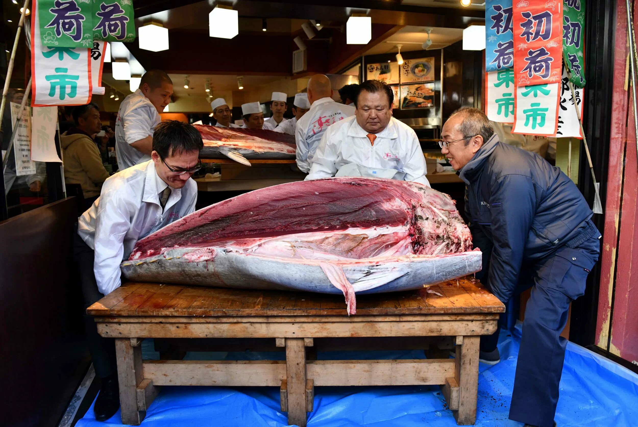
[[[327,76],[316,74],[308,80],[310,110],[297,121],[297,166],[305,173],[310,170],[309,160],[315,154],[323,133],[339,120],[354,115],[355,109],[332,100],[332,86]]]

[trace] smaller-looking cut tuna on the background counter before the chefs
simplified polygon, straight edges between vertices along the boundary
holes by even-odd
[[[202,135],[205,159],[225,159],[251,166],[251,159],[294,159],[295,137],[267,129],[193,125]]]

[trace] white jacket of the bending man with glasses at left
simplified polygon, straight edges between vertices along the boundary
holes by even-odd
[[[152,160],[140,163],[107,178],[100,198],[78,219],[78,235],[95,250],[93,271],[100,293],[120,286],[120,263],[138,240],[195,212],[193,178],[172,189],[162,212],[159,193],[166,187]]]

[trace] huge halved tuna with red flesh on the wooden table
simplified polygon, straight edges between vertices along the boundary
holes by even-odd
[[[241,194],[137,243],[129,280],[355,293],[419,289],[481,268],[447,194],[415,182],[327,178]]]

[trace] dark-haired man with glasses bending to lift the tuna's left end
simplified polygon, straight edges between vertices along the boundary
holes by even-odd
[[[201,168],[203,147],[195,127],[177,120],[160,122],[152,136],[151,160],[104,182],[100,198],[78,219],[74,243],[85,308],[120,286],[119,265],[138,240],[195,212],[197,184],[191,175]],[[105,421],[119,408],[115,347],[98,335],[90,317],[85,317],[85,331],[102,379],[95,417]]]

